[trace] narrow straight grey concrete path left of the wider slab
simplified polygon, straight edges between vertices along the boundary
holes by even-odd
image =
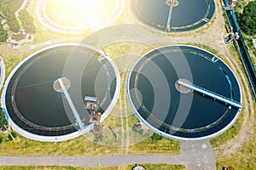
[[[0,165],[37,165],[37,166],[119,166],[136,163],[179,164],[178,156],[3,156]]]

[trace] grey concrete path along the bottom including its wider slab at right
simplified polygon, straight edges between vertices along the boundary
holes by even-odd
[[[137,163],[185,165],[187,169],[216,169],[215,156],[208,140],[182,142],[177,156],[0,156],[0,166],[99,167]]]

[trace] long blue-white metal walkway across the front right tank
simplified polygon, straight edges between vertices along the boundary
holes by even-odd
[[[187,83],[187,82],[183,82],[182,80],[177,80],[177,84],[180,85],[180,86],[183,86],[185,88],[190,88],[196,92],[199,92],[201,94],[204,94],[204,95],[207,95],[209,97],[212,97],[213,99],[218,99],[219,101],[222,101],[224,102],[225,104],[230,104],[238,109],[241,109],[242,108],[242,105],[240,102],[237,102],[235,101],[234,99],[230,99],[230,98],[227,98],[225,97],[224,95],[221,95],[221,94],[217,94],[215,92],[212,92],[206,88],[201,88],[195,84],[192,84],[192,83]]]

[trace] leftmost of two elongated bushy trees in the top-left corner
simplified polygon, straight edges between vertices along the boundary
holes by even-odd
[[[1,11],[8,21],[8,26],[11,31],[18,32],[20,30],[19,22],[15,17],[15,11],[12,8],[9,8],[6,4],[1,6]]]

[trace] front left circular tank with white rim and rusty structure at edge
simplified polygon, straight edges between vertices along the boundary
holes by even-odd
[[[119,73],[108,55],[84,44],[64,43],[29,55],[10,74],[2,94],[3,111],[18,133],[30,139],[61,141],[90,131],[85,96],[97,99],[101,122],[119,95]],[[62,80],[67,94],[60,84]],[[84,128],[73,113],[67,95]]]

